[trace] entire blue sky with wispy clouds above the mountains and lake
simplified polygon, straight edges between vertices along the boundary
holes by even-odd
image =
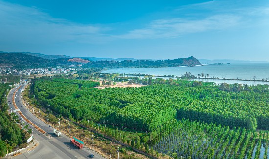
[[[0,0],[0,51],[269,61],[269,0]]]

